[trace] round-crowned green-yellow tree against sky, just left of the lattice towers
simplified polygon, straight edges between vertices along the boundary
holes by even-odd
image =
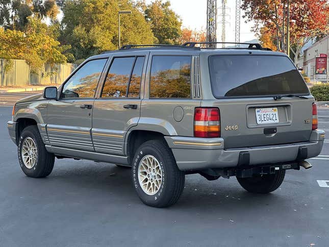
[[[181,36],[182,21],[170,9],[169,1],[156,0],[145,9],[145,18],[150,23],[154,36],[160,44],[175,44]]]

